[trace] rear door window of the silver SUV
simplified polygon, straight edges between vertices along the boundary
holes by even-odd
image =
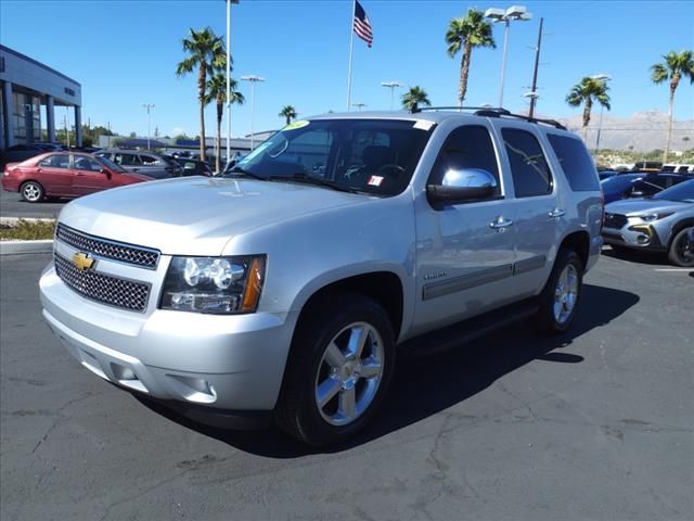
[[[511,163],[516,198],[551,193],[552,174],[536,137],[515,128],[502,129],[501,136]]]

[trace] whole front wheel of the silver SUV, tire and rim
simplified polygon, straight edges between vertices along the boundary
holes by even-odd
[[[287,361],[275,418],[313,446],[359,431],[378,408],[395,365],[393,326],[375,301],[331,295],[310,306]]]

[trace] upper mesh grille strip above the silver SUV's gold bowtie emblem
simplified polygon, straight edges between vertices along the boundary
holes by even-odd
[[[159,252],[157,250],[100,239],[82,231],[74,230],[65,225],[57,225],[55,236],[62,242],[82,252],[93,253],[100,257],[143,268],[155,269],[159,262]]]

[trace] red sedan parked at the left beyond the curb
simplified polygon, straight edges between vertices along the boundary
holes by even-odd
[[[152,178],[127,171],[104,157],[77,152],[49,152],[22,163],[8,163],[2,189],[20,192],[29,203],[47,196],[78,198]]]

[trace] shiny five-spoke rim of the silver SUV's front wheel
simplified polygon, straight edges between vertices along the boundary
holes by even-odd
[[[342,329],[325,347],[318,366],[314,399],[331,425],[347,425],[364,414],[383,377],[384,347],[367,322]]]

